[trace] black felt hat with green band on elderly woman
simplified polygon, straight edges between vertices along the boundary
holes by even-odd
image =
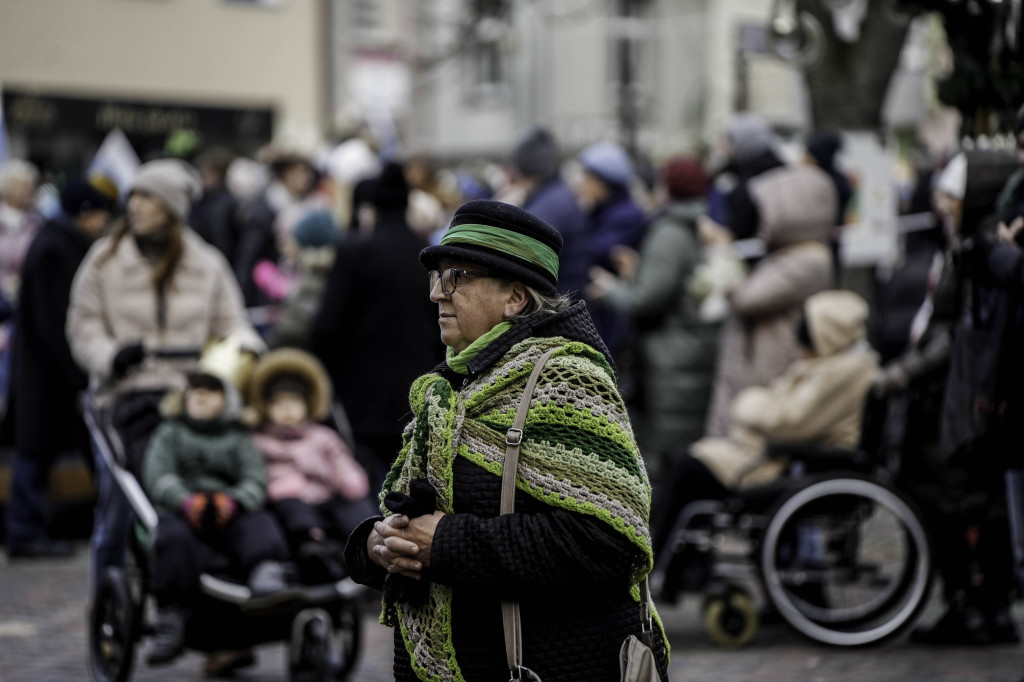
[[[421,251],[420,262],[428,269],[441,258],[478,263],[554,294],[561,248],[562,236],[537,216],[511,204],[479,200],[456,210],[440,244]]]

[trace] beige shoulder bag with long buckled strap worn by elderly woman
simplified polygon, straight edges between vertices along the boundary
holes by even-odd
[[[522,442],[522,427],[526,423],[526,413],[529,412],[529,402],[534,397],[534,389],[541,376],[548,358],[554,349],[544,353],[534,366],[534,372],[529,375],[526,388],[523,389],[522,399],[516,410],[515,421],[512,428],[505,434],[505,465],[502,469],[502,503],[501,513],[511,514],[515,511],[515,479],[516,469],[519,462],[519,444]],[[653,643],[652,624],[650,611],[650,588],[647,579],[640,585],[640,614],[642,619],[641,639],[635,635],[630,635],[623,642],[618,653],[620,670],[622,671],[622,682],[660,682],[657,675],[657,666],[654,663],[654,653],[651,650]],[[515,601],[502,602],[502,621],[505,626],[505,657],[509,667],[509,682],[529,680],[531,682],[542,682],[541,678],[534,671],[522,665],[522,626],[519,622],[519,603]]]

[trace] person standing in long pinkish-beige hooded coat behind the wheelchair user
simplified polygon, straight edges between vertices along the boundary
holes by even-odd
[[[808,296],[833,281],[827,244],[836,219],[831,179],[811,166],[768,171],[751,181],[768,251],[729,294],[706,435],[729,432],[732,400],[766,386],[800,357],[793,330]],[[684,444],[684,443],[681,443]]]

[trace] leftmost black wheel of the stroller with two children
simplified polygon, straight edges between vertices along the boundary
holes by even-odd
[[[125,682],[131,677],[135,611],[124,571],[108,568],[89,609],[89,675],[95,682]]]

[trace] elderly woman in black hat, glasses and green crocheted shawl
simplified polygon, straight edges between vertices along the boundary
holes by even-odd
[[[560,247],[530,214],[475,201],[420,255],[447,358],[414,382],[385,516],[345,553],[353,579],[384,589],[396,680],[506,679],[502,600],[519,602],[523,666],[545,682],[618,680],[620,646],[641,631],[650,486],[586,304],[556,294]],[[548,350],[515,512],[500,516],[506,432]]]

